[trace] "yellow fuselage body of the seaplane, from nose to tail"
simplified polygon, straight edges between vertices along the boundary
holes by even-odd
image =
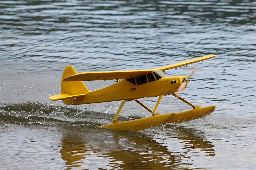
[[[154,81],[150,80],[151,82],[149,82],[148,78],[145,80],[146,83],[140,82],[143,83],[140,85],[138,85],[139,79],[136,79],[134,84],[123,79],[102,89],[89,91],[84,97],[63,100],[63,102],[65,104],[89,104],[167,95],[178,90],[183,78],[187,77],[162,77],[156,80],[157,78],[154,76]]]

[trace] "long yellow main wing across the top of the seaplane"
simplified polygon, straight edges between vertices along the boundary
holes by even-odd
[[[155,69],[147,69],[147,70],[127,70],[127,71],[108,71],[108,72],[84,72],[71,75],[70,77],[64,79],[63,81],[92,81],[92,80],[118,80],[118,79],[130,79],[133,77],[137,77],[139,75],[148,74],[154,70],[165,70],[186,66],[188,64],[196,63],[199,61],[207,60],[209,58],[215,57],[216,55],[209,55],[194,58],[192,60],[183,61],[176,64],[171,64],[169,66],[159,67]]]

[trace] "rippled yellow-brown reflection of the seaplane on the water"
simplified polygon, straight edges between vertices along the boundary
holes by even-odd
[[[169,136],[165,138],[165,143],[173,144],[170,139],[175,139],[176,143],[183,145],[179,152],[174,152],[175,149],[172,147],[164,146],[163,143],[143,133],[104,130],[102,135],[97,130],[88,128],[86,132],[82,129],[69,129],[63,132],[61,158],[65,161],[66,169],[80,167],[167,170],[186,169],[191,166],[192,164],[186,160],[195,154],[195,150],[198,152],[198,149],[201,149],[199,152],[203,152],[204,156],[215,156],[212,142],[194,135],[198,134],[197,130],[171,125],[167,128],[175,129],[176,134],[165,134],[165,137]]]

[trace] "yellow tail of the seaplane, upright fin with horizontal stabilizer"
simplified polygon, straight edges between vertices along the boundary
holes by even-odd
[[[67,66],[62,75],[62,94],[49,97],[50,100],[63,100],[65,104],[76,104],[73,98],[85,96],[89,90],[82,81],[63,81],[65,78],[77,74],[72,66]]]

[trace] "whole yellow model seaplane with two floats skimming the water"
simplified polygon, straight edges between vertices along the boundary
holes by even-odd
[[[145,70],[77,73],[72,66],[67,66],[62,75],[61,94],[51,96],[49,99],[52,101],[62,100],[65,104],[73,105],[122,101],[116,115],[113,118],[113,123],[97,126],[97,128],[112,130],[139,131],[163,123],[177,124],[184,121],[201,118],[212,113],[215,109],[215,106],[200,108],[199,106],[194,106],[179,96],[181,91],[184,90],[189,83],[190,77],[194,70],[189,76],[175,77],[167,77],[164,72],[169,69],[177,69],[178,67],[187,66],[188,64],[207,60],[215,56],[216,55],[208,55],[176,64],[171,64],[169,66]],[[116,80],[116,83],[102,89],[89,91],[83,81],[94,80]],[[170,94],[185,102],[193,109],[185,112],[162,115],[156,113],[162,96]],[[159,96],[158,101],[156,102],[153,111],[138,100],[139,98],[157,96]],[[127,101],[137,102],[140,106],[149,111],[152,116],[119,122],[117,117],[121,112],[124,103]]]

